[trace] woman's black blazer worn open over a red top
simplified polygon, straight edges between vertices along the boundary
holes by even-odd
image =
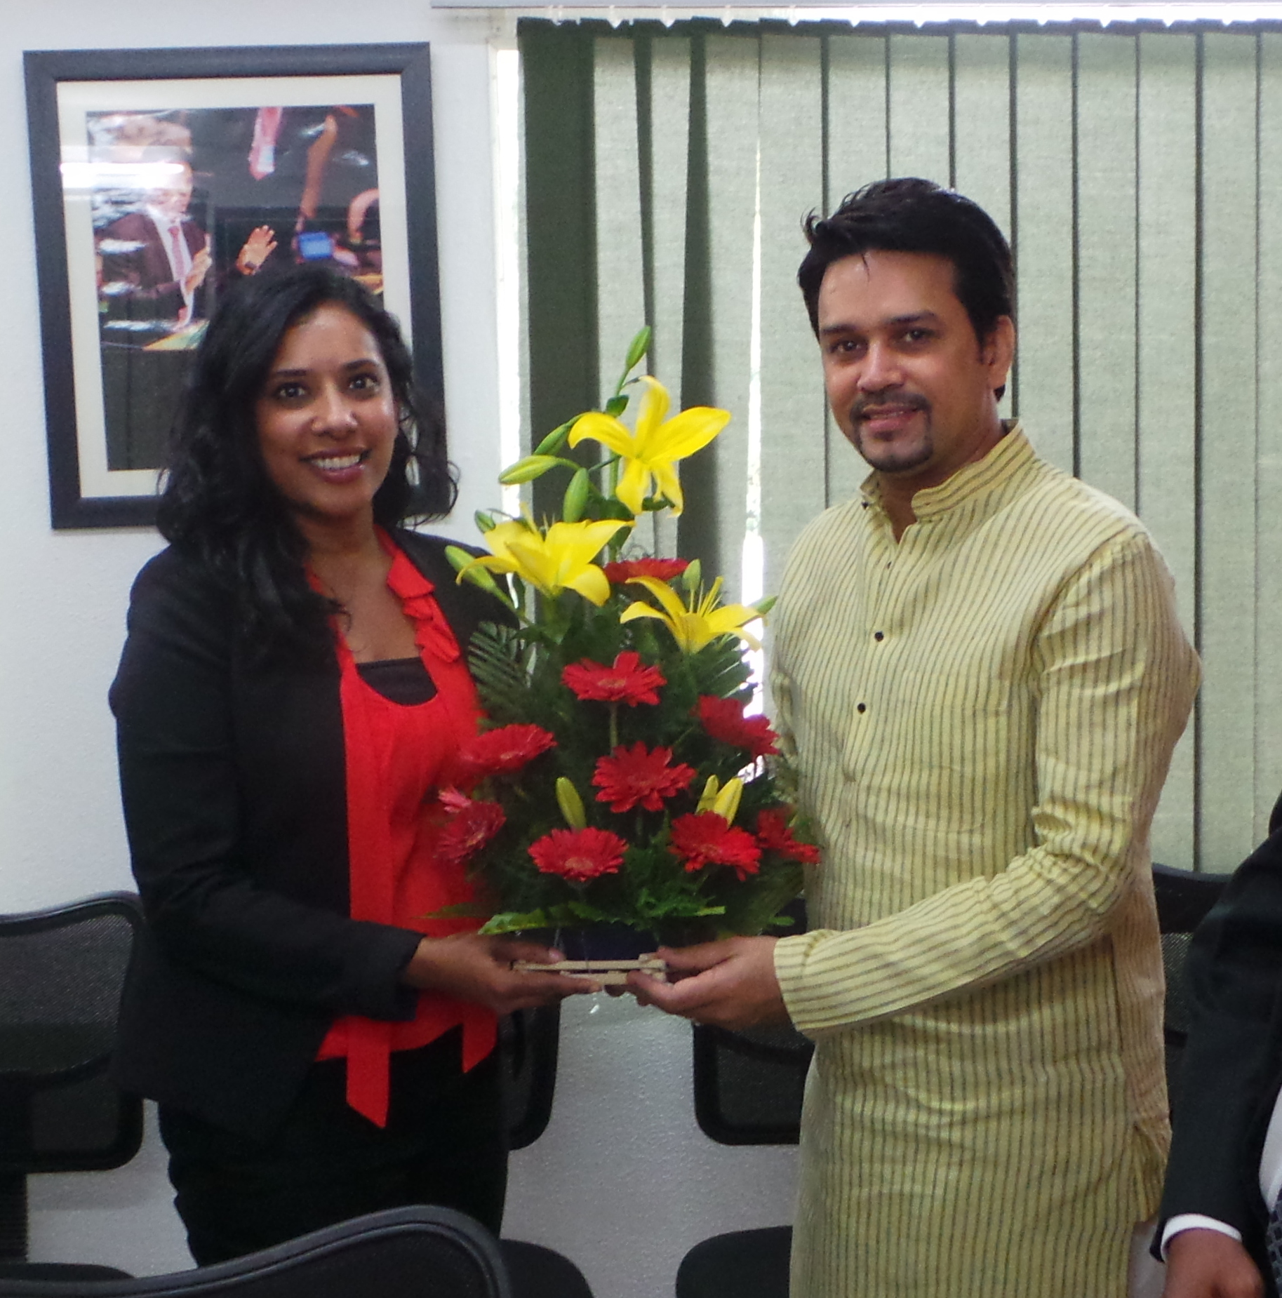
[[[465,648],[506,610],[445,541],[397,543]],[[232,596],[174,549],[139,574],[110,691],[147,912],[121,1006],[132,1092],[265,1137],[335,1016],[409,1019],[419,936],[348,916],[339,665],[256,665]]]

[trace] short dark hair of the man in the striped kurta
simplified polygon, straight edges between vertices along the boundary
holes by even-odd
[[[841,200],[830,217],[806,218],[810,252],[797,271],[810,327],[819,334],[819,287],[842,257],[867,252],[924,252],[952,262],[954,292],[976,337],[987,339],[1002,315],[1015,318],[1011,245],[976,202],[933,180],[873,180]]]

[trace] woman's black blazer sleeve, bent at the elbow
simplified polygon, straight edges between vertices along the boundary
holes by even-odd
[[[237,752],[232,628],[230,598],[173,552],[135,583],[110,702],[149,928],[167,958],[239,990],[335,1014],[410,1018],[415,993],[400,972],[419,933],[308,905],[266,884],[247,859],[245,800],[256,790],[245,788]],[[345,842],[339,850],[345,859]]]

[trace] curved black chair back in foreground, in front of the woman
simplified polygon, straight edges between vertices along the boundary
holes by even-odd
[[[453,1208],[392,1208],[234,1262],[139,1280],[8,1280],[0,1298],[511,1298],[497,1241]]]

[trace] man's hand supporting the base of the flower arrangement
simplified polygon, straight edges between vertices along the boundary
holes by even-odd
[[[645,974],[628,975],[628,990],[641,1005],[657,1005],[695,1023],[719,1028],[750,1028],[758,1023],[786,1023],[788,1010],[775,977],[773,937],[731,937],[679,950],[660,948],[676,983],[659,983]]]

